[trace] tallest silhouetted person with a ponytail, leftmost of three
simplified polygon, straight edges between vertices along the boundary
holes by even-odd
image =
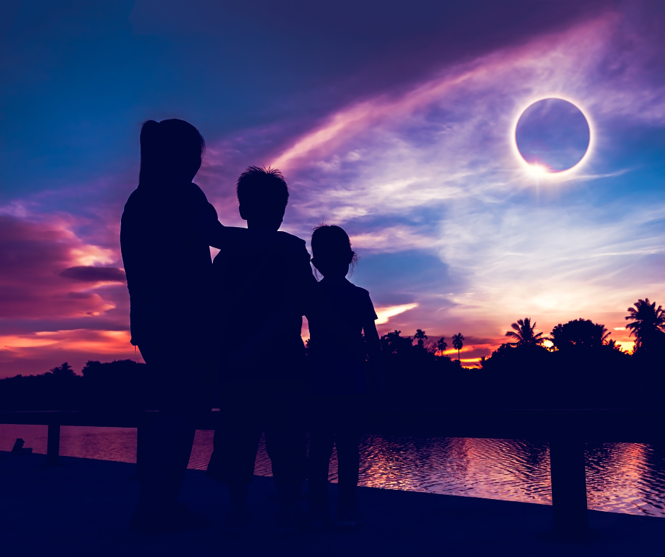
[[[141,494],[131,527],[162,532],[199,525],[176,501],[214,380],[212,259],[229,228],[192,183],[204,151],[199,131],[179,119],[141,128],[139,186],[120,226],[132,344],[154,377],[158,418],[141,438]],[[149,404],[146,401],[146,404]]]

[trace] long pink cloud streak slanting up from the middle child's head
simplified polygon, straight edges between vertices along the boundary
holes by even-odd
[[[594,20],[585,21],[564,32],[538,37],[527,45],[502,49],[470,63],[446,68],[438,76],[420,83],[406,93],[397,96],[384,93],[356,102],[330,115],[320,127],[296,139],[272,160],[271,165],[282,170],[296,170],[310,164],[312,160],[330,157],[346,141],[370,127],[385,125],[386,120],[395,122],[410,117],[414,112],[424,109],[457,88],[468,86],[473,95],[474,88],[485,87],[492,82],[500,83],[502,74],[507,72],[514,74],[521,71],[531,74],[532,78],[525,80],[525,85],[528,83],[527,88],[533,88],[533,74],[538,74],[543,88],[538,91],[536,86],[536,90],[530,93],[531,96],[562,93],[567,87],[561,86],[562,76],[557,74],[567,72],[574,66],[586,65],[591,69],[591,66],[598,64],[601,58],[606,56],[607,38],[617,32],[619,23],[618,13],[603,13]],[[582,52],[584,61],[581,59]],[[572,85],[575,86],[574,83]],[[621,85],[634,88],[631,83]],[[649,95],[640,105],[653,105],[653,100],[653,95]],[[600,101],[601,99],[598,99],[598,102]],[[631,106],[625,98],[609,101],[603,98],[602,101],[605,104],[609,102],[611,107],[608,108],[612,111],[633,110],[637,113],[636,107]],[[662,109],[662,106],[660,108]],[[663,116],[662,110],[660,116]],[[652,111],[649,112],[649,117],[654,117]]]

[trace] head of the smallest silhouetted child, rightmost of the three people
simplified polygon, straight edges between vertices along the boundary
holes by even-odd
[[[349,265],[357,262],[351,249],[351,240],[343,228],[322,224],[312,234],[312,264],[323,276],[342,278],[347,276]]]

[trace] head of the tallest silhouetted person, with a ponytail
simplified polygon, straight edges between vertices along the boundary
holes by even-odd
[[[201,168],[204,151],[203,136],[185,120],[144,122],[139,184],[191,182]]]

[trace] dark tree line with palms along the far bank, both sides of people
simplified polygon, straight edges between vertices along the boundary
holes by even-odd
[[[445,337],[429,341],[395,330],[381,336],[383,395],[368,401],[381,408],[598,408],[661,405],[665,383],[665,312],[638,300],[628,309],[626,328],[635,338],[631,353],[590,319],[557,324],[545,336],[531,318],[518,319],[507,342],[463,368],[464,336],[452,336],[458,359],[444,352]],[[549,341],[549,342],[547,342]],[[549,345],[549,346],[545,346]],[[183,373],[185,370],[183,370]],[[133,360],[88,361],[81,375],[68,363],[49,373],[0,380],[6,410],[154,409],[154,377]]]

